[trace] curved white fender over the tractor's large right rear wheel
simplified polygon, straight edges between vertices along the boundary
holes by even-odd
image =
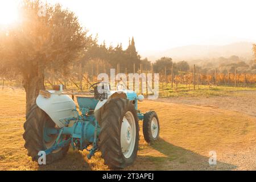
[[[101,122],[101,115],[104,111],[104,105],[108,103],[110,100],[113,98],[127,98],[127,95],[125,92],[122,91],[110,91],[108,94],[108,99],[99,101],[98,104],[96,105],[94,109],[94,115],[97,121],[100,123]]]

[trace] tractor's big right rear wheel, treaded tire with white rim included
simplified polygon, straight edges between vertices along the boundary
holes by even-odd
[[[114,98],[104,106],[100,122],[100,151],[109,168],[134,163],[139,144],[137,111],[132,101]]]

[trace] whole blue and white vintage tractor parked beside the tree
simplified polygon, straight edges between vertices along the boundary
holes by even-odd
[[[79,110],[63,92],[63,85],[40,91],[24,123],[24,147],[32,160],[38,161],[39,152],[44,151],[46,164],[50,164],[62,159],[72,147],[88,150],[89,159],[101,151],[109,168],[125,168],[137,156],[139,120],[143,121],[146,142],[158,139],[158,115],[138,110],[142,95],[123,88],[112,91],[106,82],[91,85],[89,91],[94,97],[77,93]]]

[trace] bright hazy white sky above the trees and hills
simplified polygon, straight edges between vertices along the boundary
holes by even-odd
[[[60,2],[75,11],[90,33],[98,33],[100,42],[106,40],[114,46],[121,42],[126,48],[129,37],[134,36],[139,53],[189,44],[256,40],[255,0],[48,2]]]

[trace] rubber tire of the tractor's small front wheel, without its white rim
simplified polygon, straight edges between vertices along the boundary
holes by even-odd
[[[153,118],[156,118],[156,121],[158,123],[158,134],[156,135],[156,137],[153,137],[151,132],[151,122]],[[143,119],[142,129],[143,129],[144,139],[146,140],[147,143],[154,142],[159,138],[159,131],[160,131],[159,119],[155,111],[147,111]]]

